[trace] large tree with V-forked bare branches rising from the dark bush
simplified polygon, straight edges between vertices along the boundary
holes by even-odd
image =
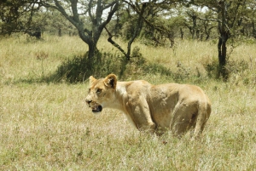
[[[96,45],[104,27],[108,25],[119,8],[119,0],[40,0],[40,4],[46,8],[56,9],[76,27],[79,37],[89,46],[88,58],[90,59],[97,52]],[[85,23],[84,18],[89,22]]]

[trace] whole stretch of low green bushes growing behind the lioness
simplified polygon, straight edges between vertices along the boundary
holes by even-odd
[[[42,77],[42,81],[79,83],[84,82],[90,76],[106,77],[110,73],[115,73],[122,79],[135,79],[146,74],[172,75],[177,79],[184,78],[183,72],[173,75],[172,71],[165,66],[149,62],[143,58],[137,47],[133,49],[131,54],[131,60],[126,60],[125,56],[119,54],[106,52],[96,53],[92,60],[88,59],[88,53],[74,55],[63,61],[49,77]]]

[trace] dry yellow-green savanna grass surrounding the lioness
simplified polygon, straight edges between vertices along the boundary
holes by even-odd
[[[86,78],[75,84],[42,81],[64,60],[87,51],[79,37],[1,38],[0,170],[255,170],[256,44],[234,48],[228,82],[214,78],[214,42],[135,45],[146,60],[174,74],[134,67],[124,80],[192,83],[206,91],[212,116],[201,139],[140,133],[115,110],[92,114],[84,103]],[[98,48],[118,53],[106,39]]]

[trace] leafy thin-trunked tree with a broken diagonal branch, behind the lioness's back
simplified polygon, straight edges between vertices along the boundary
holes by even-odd
[[[116,48],[119,48],[119,50],[125,54],[126,60],[131,59],[131,44],[137,37],[140,36],[143,28],[145,33],[144,37],[150,37],[154,42],[160,43],[158,38],[154,37],[155,32],[159,31],[161,36],[165,35],[168,37],[173,45],[174,41],[172,41],[172,31],[168,30],[165,22],[160,21],[159,14],[164,15],[163,10],[170,9],[170,4],[174,3],[175,1],[159,2],[157,0],[152,0],[148,1],[147,3],[141,3],[140,1],[122,0],[122,2],[123,4],[126,4],[124,5],[126,9],[122,12],[123,19],[125,19],[125,21],[121,20],[120,22],[123,23],[123,26],[126,24],[126,28],[128,27],[128,29],[124,31],[125,35],[123,35],[125,39],[128,40],[127,52],[125,52],[125,50],[121,48],[119,44],[113,41],[111,32],[107,29],[106,30],[108,31],[109,35],[108,42],[112,43]],[[119,19],[119,16],[117,18]]]

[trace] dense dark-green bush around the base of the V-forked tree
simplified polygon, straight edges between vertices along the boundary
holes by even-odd
[[[119,72],[120,60],[118,55],[97,52],[95,58],[89,59],[88,53],[74,55],[65,60],[54,74],[48,78],[48,82],[84,82],[91,75],[105,77],[109,73]]]

